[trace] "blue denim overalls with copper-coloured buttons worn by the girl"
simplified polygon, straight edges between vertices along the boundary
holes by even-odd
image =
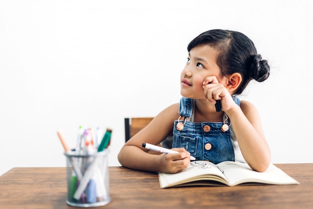
[[[233,96],[233,100],[240,105],[239,98]],[[193,122],[188,121],[192,110],[195,108],[195,100],[182,97],[179,103],[178,114],[184,116],[185,120],[175,120],[173,128],[172,147],[184,147],[197,160],[209,160],[215,164],[221,161],[235,161],[234,149],[230,138],[230,129],[223,132],[221,126],[226,120],[225,116],[221,122]],[[178,122],[183,123],[183,128],[178,130]],[[229,118],[225,124],[230,125]]]

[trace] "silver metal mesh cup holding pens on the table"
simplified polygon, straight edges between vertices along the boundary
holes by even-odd
[[[94,207],[110,202],[107,154],[108,149],[92,154],[64,153],[68,205]]]

